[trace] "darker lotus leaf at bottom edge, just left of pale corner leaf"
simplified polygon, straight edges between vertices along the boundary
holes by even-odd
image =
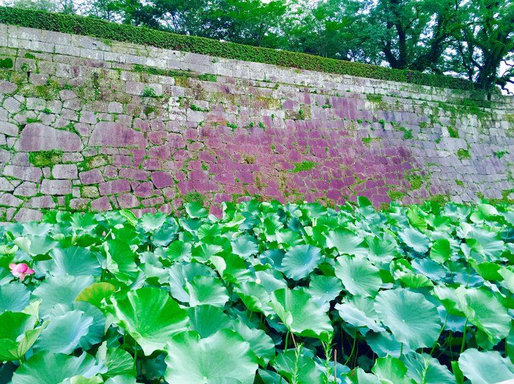
[[[408,376],[416,383],[456,384],[455,377],[448,368],[426,353],[411,352],[405,355],[403,361],[407,367]]]

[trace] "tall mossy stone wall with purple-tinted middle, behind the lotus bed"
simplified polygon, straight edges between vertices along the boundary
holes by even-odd
[[[514,102],[0,25],[0,221],[514,199]]]

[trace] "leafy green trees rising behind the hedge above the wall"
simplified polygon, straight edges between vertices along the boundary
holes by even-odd
[[[514,84],[513,0],[9,0],[258,47]]]

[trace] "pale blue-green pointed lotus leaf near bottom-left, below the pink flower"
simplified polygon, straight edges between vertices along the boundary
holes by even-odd
[[[93,317],[79,310],[53,316],[34,349],[69,355],[79,346],[80,339],[88,334],[92,325]]]

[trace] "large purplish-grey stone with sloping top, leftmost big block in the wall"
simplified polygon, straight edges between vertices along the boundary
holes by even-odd
[[[21,131],[19,147],[24,152],[50,151],[51,149],[77,152],[84,145],[79,136],[73,132],[56,130],[40,123],[30,123],[25,125]]]

